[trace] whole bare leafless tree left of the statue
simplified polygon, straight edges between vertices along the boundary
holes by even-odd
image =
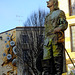
[[[20,36],[22,36],[22,34],[27,35],[27,38],[20,37],[20,40],[18,39],[17,42],[17,56],[19,61],[21,61],[20,64],[23,66],[22,75],[25,75],[26,68],[28,69],[28,73],[30,73],[30,75],[38,74],[38,70],[36,69],[36,58],[38,53],[43,49],[43,30],[46,15],[47,12],[39,10],[38,12],[31,14],[31,16],[24,23],[25,28],[23,32],[21,32]],[[27,44],[23,45],[22,40]]]

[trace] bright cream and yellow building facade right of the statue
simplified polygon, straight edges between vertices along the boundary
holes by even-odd
[[[59,8],[65,12],[68,21],[68,28],[65,31],[65,48],[73,63],[75,63],[75,0],[58,0]],[[68,70],[74,69],[66,54],[66,65]]]

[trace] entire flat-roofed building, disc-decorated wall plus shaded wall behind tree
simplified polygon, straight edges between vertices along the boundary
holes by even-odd
[[[43,31],[44,27],[16,27],[0,33],[1,75],[34,74],[32,67],[36,69],[36,56],[43,46]]]

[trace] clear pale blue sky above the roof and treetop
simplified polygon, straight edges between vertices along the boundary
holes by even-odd
[[[23,26],[27,17],[38,9],[49,11],[47,0],[0,0],[0,33]]]

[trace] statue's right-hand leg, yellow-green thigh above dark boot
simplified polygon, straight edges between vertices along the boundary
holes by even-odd
[[[62,75],[63,69],[63,51],[61,45],[55,44],[53,45],[53,56],[54,56],[54,63],[56,68],[55,75]]]

